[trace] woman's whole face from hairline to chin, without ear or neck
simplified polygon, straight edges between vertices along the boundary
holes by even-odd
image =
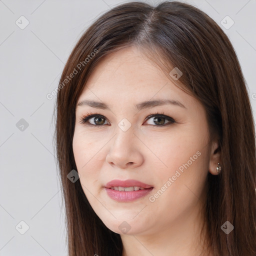
[[[79,181],[109,229],[150,234],[198,213],[210,161],[205,110],[138,49],[98,64],[75,115]]]

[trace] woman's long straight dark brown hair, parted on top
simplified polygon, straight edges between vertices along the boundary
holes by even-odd
[[[256,255],[255,132],[237,56],[208,15],[186,3],[165,1],[155,7],[129,2],[105,12],[81,36],[63,69],[55,136],[69,256],[122,253],[120,235],[103,224],[80,182],[70,182],[67,174],[76,169],[72,151],[76,101],[103,56],[130,45],[146,53],[167,76],[173,67],[182,71],[176,84],[203,104],[211,138],[218,138],[222,171],[208,173],[205,207],[214,255]],[[229,234],[220,228],[227,220],[234,226]]]

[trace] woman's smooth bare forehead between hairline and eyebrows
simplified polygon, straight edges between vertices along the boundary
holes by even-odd
[[[116,105],[171,99],[188,108],[198,104],[133,46],[106,55],[93,69],[85,85],[78,101],[89,99]]]

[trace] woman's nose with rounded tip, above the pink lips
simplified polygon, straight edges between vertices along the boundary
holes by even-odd
[[[140,143],[131,128],[126,131],[119,129],[112,139],[106,161],[122,169],[140,166],[144,159]]]

